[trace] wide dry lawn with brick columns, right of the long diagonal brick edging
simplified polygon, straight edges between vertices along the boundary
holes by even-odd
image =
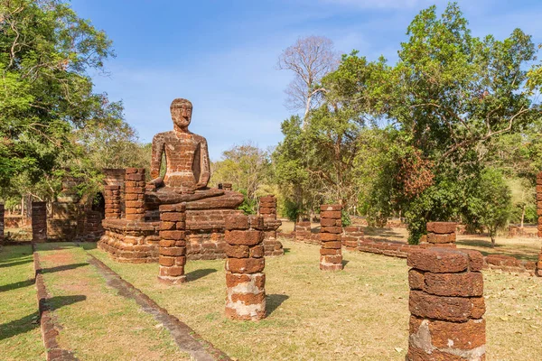
[[[345,270],[318,269],[318,246],[283,240],[285,256],[266,259],[267,319],[223,316],[224,261],[189,262],[189,282],[156,281],[157,264],[118,264],[90,250],[201,336],[241,360],[402,360],[408,338],[403,259],[344,253]],[[489,360],[540,359],[542,279],[484,273]]]

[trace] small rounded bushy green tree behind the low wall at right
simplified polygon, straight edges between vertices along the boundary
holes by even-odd
[[[497,231],[504,228],[509,219],[510,190],[502,173],[488,168],[482,171],[475,193],[476,197],[470,199],[468,205],[471,222],[488,230],[493,248]]]

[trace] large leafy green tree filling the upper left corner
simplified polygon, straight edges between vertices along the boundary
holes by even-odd
[[[67,171],[94,180],[78,135],[123,124],[87,74],[111,41],[59,0],[0,0],[0,14],[0,189],[51,199]]]

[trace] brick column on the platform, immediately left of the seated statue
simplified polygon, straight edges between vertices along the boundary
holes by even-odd
[[[145,219],[145,168],[126,168],[126,219]]]

